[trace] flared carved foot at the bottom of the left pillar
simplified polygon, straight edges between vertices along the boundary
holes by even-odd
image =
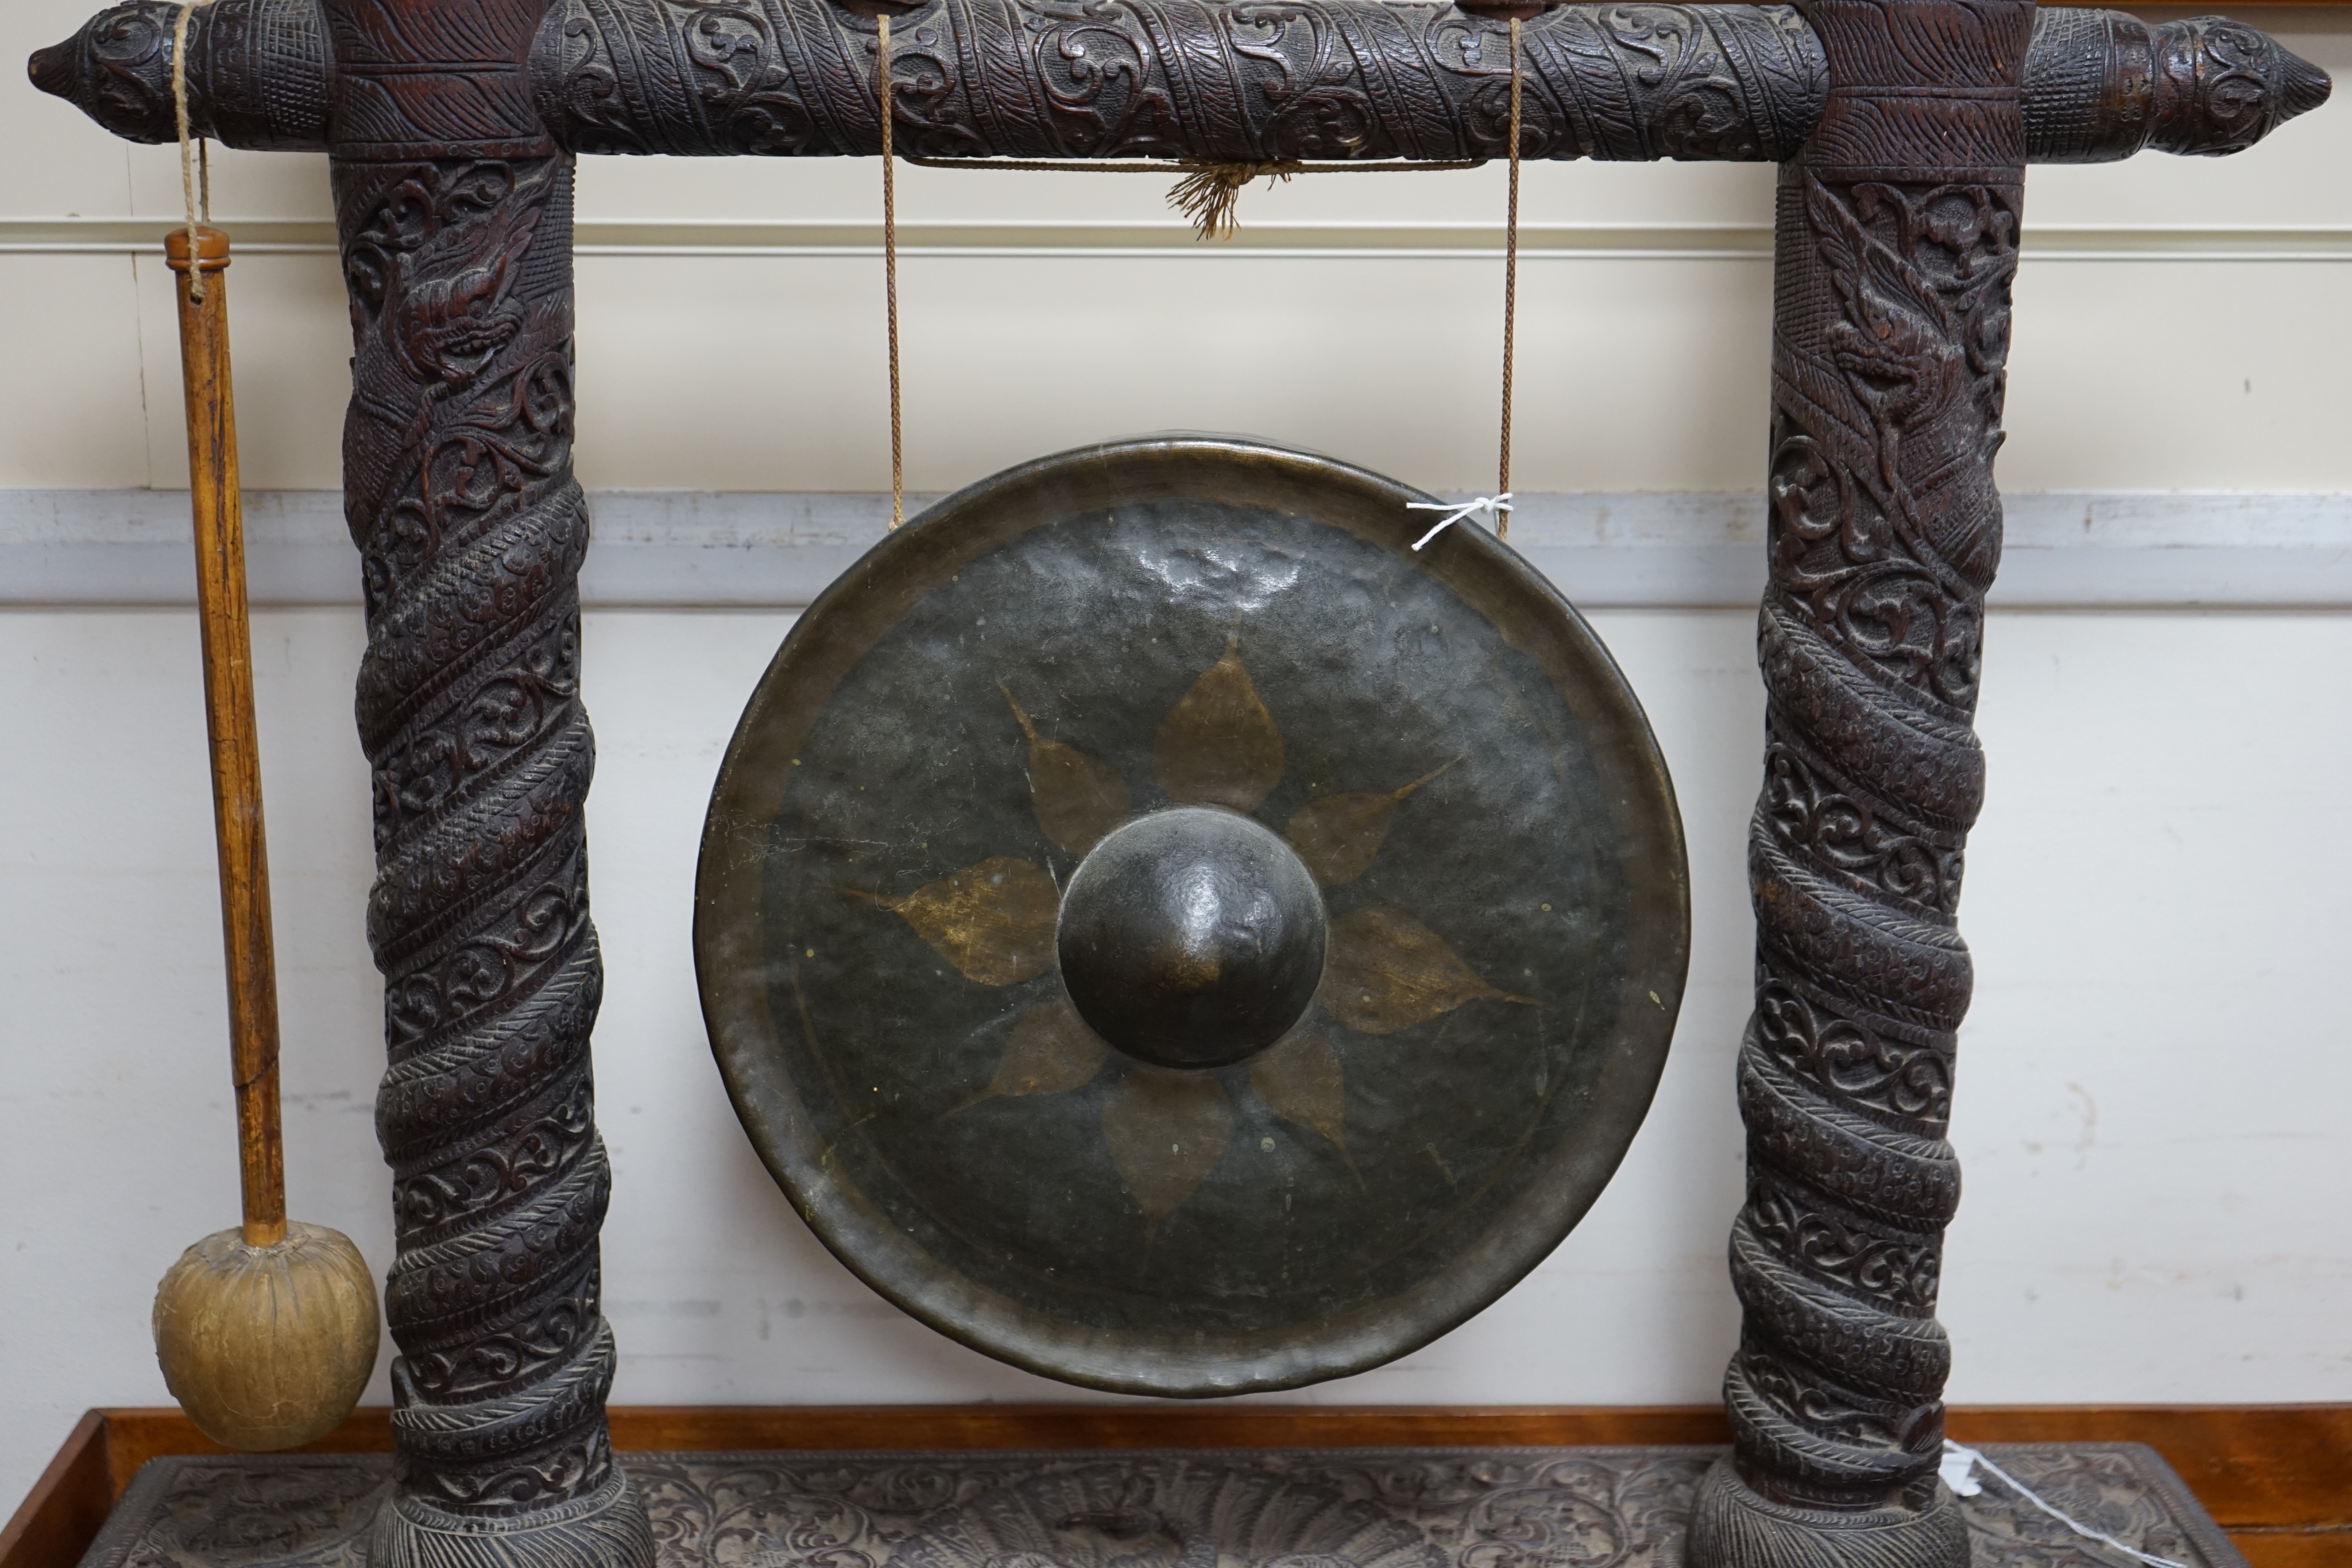
[[[310,1559],[299,1559],[310,1561]],[[654,1568],[644,1497],[614,1467],[600,1488],[515,1519],[449,1514],[388,1493],[367,1533],[369,1568]]]

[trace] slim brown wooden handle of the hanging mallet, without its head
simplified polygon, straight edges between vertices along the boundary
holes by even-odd
[[[254,644],[245,618],[245,512],[238,503],[238,407],[228,381],[228,235],[195,226],[165,237],[179,275],[179,357],[188,388],[188,491],[195,508],[195,602],[205,639],[205,729],[221,851],[221,943],[228,950],[228,1048],[238,1084],[245,1244],[287,1234],[278,1119],[278,971],[270,954],[270,865],[261,837],[261,748],[254,738]],[[193,266],[193,270],[191,270]],[[191,282],[202,275],[202,299]]]

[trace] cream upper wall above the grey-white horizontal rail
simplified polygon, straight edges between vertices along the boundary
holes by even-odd
[[[94,0],[9,0],[0,61],[64,38]],[[2180,14],[2180,12],[2150,12]],[[2338,75],[2352,7],[2241,12]],[[0,85],[0,484],[186,482],[169,277],[155,256],[26,252],[33,219],[143,244],[179,214],[179,155],[101,134],[21,80]],[[2011,489],[2352,491],[2352,108],[2338,99],[2239,158],[2044,167],[2018,284]],[[1755,489],[1764,451],[1771,223],[1764,165],[1531,165],[1531,228],[1628,226],[1729,259],[1548,254],[1519,296],[1519,454],[1531,491]],[[1491,226],[1503,169],[1296,179],[1242,197],[1244,233],[1294,254],[1195,247],[1103,256],[1087,226],[1181,223],[1164,183],[1108,174],[901,172],[901,216],[1054,223],[1016,256],[903,261],[908,487],[948,491],[1016,461],[1162,428],[1247,430],[1374,463],[1423,489],[1494,461],[1498,266],[1331,256],[1331,226]],[[223,153],[219,214],[329,216],[325,158]],[[699,256],[581,261],[581,477],[616,489],[889,487],[880,266],[856,242],[743,254],[748,221],[866,223],[856,160],[628,160],[581,167],[583,235],[731,221]],[[21,230],[12,237],[12,226]],[[42,244],[68,244],[42,230]],[[2270,240],[2263,247],[2263,240]],[[929,242],[927,242],[929,244]],[[2291,261],[2194,256],[2256,249]],[[230,273],[245,480],[332,489],[350,355],[332,254],[240,252]]]

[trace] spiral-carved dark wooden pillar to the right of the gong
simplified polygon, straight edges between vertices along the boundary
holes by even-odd
[[[1936,1479],[1959,872],[2002,552],[2032,5],[1818,0],[1830,106],[1780,167],[1757,1011],[1731,1232],[1736,1458],[1700,1568],[1959,1568]]]

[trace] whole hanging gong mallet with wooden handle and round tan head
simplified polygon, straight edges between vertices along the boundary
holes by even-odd
[[[238,1088],[245,1225],[205,1237],[155,1288],[155,1359],[205,1436],[247,1453],[332,1432],[376,1368],[376,1281],[350,1237],[287,1222],[278,1121],[278,976],[261,837],[254,654],[245,621],[238,414],[228,383],[228,235],[191,223],[165,240],[179,284],[188,383],[188,491],[205,639],[205,729],[221,851],[228,1048]]]

